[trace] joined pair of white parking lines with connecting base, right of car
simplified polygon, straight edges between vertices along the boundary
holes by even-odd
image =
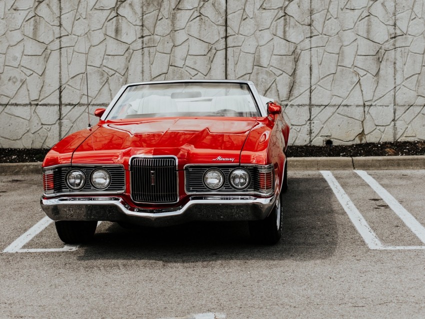
[[[341,206],[344,208],[351,222],[354,224],[358,233],[363,237],[364,242],[370,249],[380,250],[411,250],[411,249],[425,249],[425,246],[389,246],[383,245],[374,231],[370,228],[367,221],[360,214],[354,203],[349,196],[345,193],[341,185],[328,170],[321,170],[321,174],[326,179],[330,188],[333,190],[336,198]],[[425,242],[425,228],[403,207],[401,204],[391,196],[375,179],[363,170],[355,170],[355,172],[362,177],[370,187],[388,204],[388,206],[400,217],[400,219],[416,234],[416,236]]]

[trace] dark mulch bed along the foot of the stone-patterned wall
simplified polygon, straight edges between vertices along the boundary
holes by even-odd
[[[0,163],[42,161],[48,149],[0,148]],[[383,142],[352,145],[288,146],[288,157],[425,155],[425,142]]]

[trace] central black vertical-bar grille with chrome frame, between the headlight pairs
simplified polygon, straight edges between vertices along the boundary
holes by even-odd
[[[136,202],[171,203],[178,201],[174,157],[133,158],[131,198]]]

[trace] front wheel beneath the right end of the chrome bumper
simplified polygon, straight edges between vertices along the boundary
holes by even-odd
[[[249,234],[256,243],[273,245],[282,236],[282,206],[277,196],[273,210],[263,220],[249,221]]]

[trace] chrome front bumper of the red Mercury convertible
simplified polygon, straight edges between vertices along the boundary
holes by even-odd
[[[128,221],[148,226],[164,226],[191,220],[261,220],[273,207],[274,195],[193,196],[172,208],[134,208],[120,197],[59,197],[44,199],[40,204],[53,220]]]

